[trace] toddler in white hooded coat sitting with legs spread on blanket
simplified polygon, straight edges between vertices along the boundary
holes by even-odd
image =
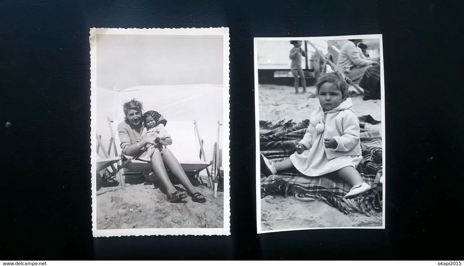
[[[356,171],[362,160],[360,127],[347,98],[348,84],[327,66],[316,87],[321,106],[310,115],[309,127],[296,152],[276,163],[261,154],[264,174],[275,175],[292,167],[310,177],[335,174],[353,186],[344,197],[358,195],[371,187]]]

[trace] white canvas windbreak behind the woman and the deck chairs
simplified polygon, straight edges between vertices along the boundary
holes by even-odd
[[[103,144],[109,143],[107,117],[113,119],[112,130],[120,153],[115,129],[124,120],[123,103],[135,98],[143,102],[144,111],[155,110],[168,120],[166,130],[173,139],[168,148],[179,161],[200,160],[200,144],[193,125],[196,120],[200,137],[204,140],[206,160],[211,161],[213,145],[217,141],[218,120],[222,123],[224,117],[223,97],[223,86],[213,84],[138,86],[121,90],[97,88],[97,133],[102,135]],[[222,139],[222,126],[219,139]]]

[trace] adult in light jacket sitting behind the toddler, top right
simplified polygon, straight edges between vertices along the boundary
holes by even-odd
[[[337,61],[337,68],[358,85],[364,72],[371,66],[379,64],[377,61],[361,57],[361,49],[356,46],[361,41],[361,39],[351,39],[343,44]]]

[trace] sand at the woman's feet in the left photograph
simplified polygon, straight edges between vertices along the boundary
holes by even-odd
[[[191,197],[168,203],[166,195],[151,182],[127,185],[124,191],[97,196],[97,229],[223,227],[223,192],[214,198],[213,190],[199,185],[196,188],[206,197],[206,203],[195,203]],[[175,187],[184,190],[180,184]]]

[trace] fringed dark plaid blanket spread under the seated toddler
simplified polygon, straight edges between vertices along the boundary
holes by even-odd
[[[351,189],[351,185],[338,177],[308,177],[296,169],[265,177],[261,174],[261,197],[268,195],[293,195],[302,201],[322,200],[341,212],[359,212],[371,216],[372,212],[382,210],[382,189],[379,184],[382,176],[382,160],[372,156],[372,151],[381,150],[382,138],[378,131],[367,131],[365,123],[378,124],[370,115],[359,117],[361,127],[361,150],[363,159],[357,170],[364,182],[372,189],[354,198],[343,196]],[[303,138],[309,120],[296,124],[292,120],[280,121],[276,125],[259,121],[260,151],[272,161],[282,161],[296,151],[296,144]],[[261,171],[263,172],[263,171]]]

